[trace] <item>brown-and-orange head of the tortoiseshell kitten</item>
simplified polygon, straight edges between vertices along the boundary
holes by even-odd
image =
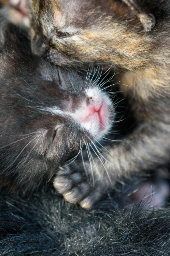
[[[131,69],[149,48],[139,19],[120,1],[30,0],[32,51],[56,65]],[[137,26],[136,26],[137,24]]]

